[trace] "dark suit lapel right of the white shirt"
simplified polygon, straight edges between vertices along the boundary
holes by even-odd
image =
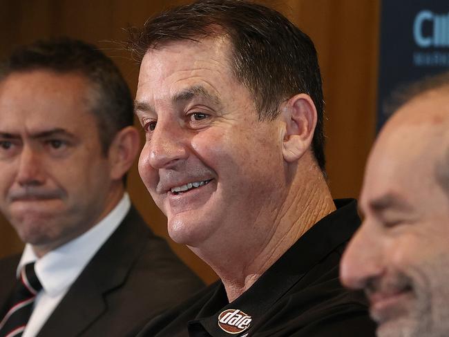
[[[151,231],[131,207],[122,224],[97,251],[37,337],[81,336],[106,312],[107,292],[123,285]]]

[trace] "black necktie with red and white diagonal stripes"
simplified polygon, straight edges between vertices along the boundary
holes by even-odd
[[[42,289],[35,273],[35,263],[22,268],[20,278],[8,302],[8,311],[0,322],[0,337],[19,337],[31,316],[37,293]]]

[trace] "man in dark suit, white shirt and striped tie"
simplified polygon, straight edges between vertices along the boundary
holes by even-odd
[[[0,261],[0,336],[132,336],[202,287],[131,206],[138,148],[128,87],[94,46],[40,41],[1,65],[0,210],[26,247]]]

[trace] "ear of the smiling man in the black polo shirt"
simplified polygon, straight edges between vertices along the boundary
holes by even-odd
[[[312,143],[316,126],[316,107],[307,94],[298,94],[284,103],[281,111],[285,122],[283,156],[286,162],[298,160]]]

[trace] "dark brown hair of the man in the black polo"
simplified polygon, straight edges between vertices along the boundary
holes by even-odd
[[[149,49],[171,41],[226,36],[236,79],[250,91],[260,120],[272,120],[296,93],[312,97],[318,122],[312,151],[325,172],[323,88],[312,40],[286,17],[266,6],[239,0],[204,0],[179,6],[131,28],[128,48],[141,62]]]

